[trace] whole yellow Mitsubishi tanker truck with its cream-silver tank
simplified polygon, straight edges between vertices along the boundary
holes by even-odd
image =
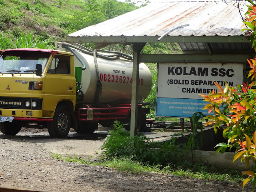
[[[130,122],[132,56],[56,42],[55,49],[0,51],[0,130],[15,135],[22,127],[47,128],[65,138],[70,128],[93,133],[100,123]],[[146,127],[152,76],[139,66],[138,128]],[[128,127],[129,128],[129,127]]]

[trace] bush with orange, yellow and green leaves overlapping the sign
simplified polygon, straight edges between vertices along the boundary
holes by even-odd
[[[252,62],[248,60],[248,62],[252,68],[248,77],[254,75],[252,79],[256,78],[256,60],[252,60]],[[215,153],[224,153],[227,148],[235,148],[236,155],[233,162],[241,158],[241,162],[244,161],[246,168],[249,166],[249,160],[254,162],[254,172],[244,172],[244,174],[250,175],[249,178],[244,180],[245,185],[248,180],[255,177],[256,172],[256,93],[255,90],[250,89],[255,82],[252,82],[252,84],[243,83],[243,86],[238,84],[235,88],[229,87],[228,83],[225,82],[224,90],[220,84],[214,83],[219,89],[218,93],[213,90],[209,95],[201,95],[204,101],[209,102],[204,106],[204,109],[208,109],[209,112],[213,111],[215,114],[214,116],[208,115],[205,117],[211,119],[206,122],[205,126],[215,123],[213,126],[215,132],[221,125],[227,126],[222,134],[228,141],[227,143],[218,144]],[[254,179],[253,188],[255,184],[256,180]]]

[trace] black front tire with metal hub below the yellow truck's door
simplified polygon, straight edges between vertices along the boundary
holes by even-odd
[[[71,126],[71,115],[64,105],[57,106],[53,121],[47,123],[47,128],[52,138],[65,138]]]

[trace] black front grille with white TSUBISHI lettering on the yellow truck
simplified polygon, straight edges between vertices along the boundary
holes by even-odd
[[[33,98],[33,101],[38,103],[38,106],[33,109],[42,109],[42,98]],[[26,108],[25,102],[30,101],[31,98],[21,98],[21,97],[0,97],[0,108],[2,109],[30,109]]]

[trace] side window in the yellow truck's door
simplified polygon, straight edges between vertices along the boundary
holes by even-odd
[[[70,75],[70,56],[55,55],[47,73]]]

